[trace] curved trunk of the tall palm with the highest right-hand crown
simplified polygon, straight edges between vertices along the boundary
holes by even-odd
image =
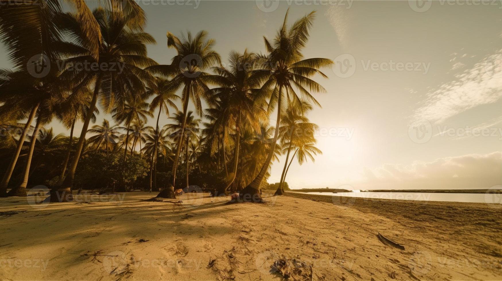
[[[265,160],[260,173],[258,173],[258,176],[239,193],[239,199],[244,202],[262,202],[262,197],[260,196],[260,186],[262,184],[263,178],[265,178],[265,174],[267,174],[270,163],[272,162],[272,157],[274,157],[277,138],[279,137],[279,126],[281,124],[281,99],[282,85],[279,86],[279,97],[277,99],[277,122],[274,132],[274,141],[272,142],[269,155],[267,156],[267,159]]]

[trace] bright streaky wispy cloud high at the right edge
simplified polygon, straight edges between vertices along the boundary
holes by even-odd
[[[486,56],[455,80],[429,92],[411,118],[411,123],[446,119],[479,105],[502,98],[502,50]]]

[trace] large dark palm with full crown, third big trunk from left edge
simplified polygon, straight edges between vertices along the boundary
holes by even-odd
[[[74,14],[66,14],[62,20],[65,32],[73,38],[77,38],[76,42],[79,44],[63,44],[68,50],[69,58],[64,61],[67,68],[65,68],[60,78],[62,81],[76,82],[77,86],[73,88],[75,95],[81,94],[88,85],[94,84],[89,111],[94,111],[96,102],[100,99],[101,106],[106,112],[109,112],[114,102],[120,103],[127,100],[135,92],[144,92],[144,81],[151,80],[152,77],[142,68],[156,64],[155,61],[147,57],[146,44],[155,44],[156,42],[152,36],[142,32],[138,27],[137,13],[134,11],[117,14],[103,9],[96,9],[93,16],[97,20],[101,32],[106,33],[99,47],[97,59],[92,56],[93,50],[87,48],[89,44],[82,35],[78,17]],[[89,71],[85,68],[71,68],[76,63],[83,65],[89,63],[106,64],[109,67],[99,68],[97,71]],[[113,65],[115,67],[112,67]],[[121,70],[118,69],[118,66],[121,67]],[[57,192],[51,193],[50,200],[53,202],[72,200],[69,191],[73,186],[75,171],[90,118],[91,116],[88,114],[84,120],[68,176],[65,177]]]

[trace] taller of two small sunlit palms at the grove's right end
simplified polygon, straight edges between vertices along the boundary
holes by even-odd
[[[310,110],[312,110],[312,105],[304,100],[301,100],[300,104],[298,105],[291,104],[289,109],[281,119],[281,127],[279,128],[281,145],[285,147],[285,145],[289,143],[289,146],[287,149],[283,172],[281,174],[281,181],[279,182],[279,187],[277,188],[276,195],[282,195],[284,193],[284,175],[286,173],[293,142],[297,138],[305,138],[309,135],[312,135],[313,138],[313,131],[318,129],[318,126],[316,124],[310,123],[309,119],[305,117],[305,114]]]

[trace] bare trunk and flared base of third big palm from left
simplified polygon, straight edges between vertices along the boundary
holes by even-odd
[[[92,112],[96,108],[97,97],[99,94],[99,88],[101,87],[101,76],[98,76],[96,79],[96,83],[94,85],[94,94],[92,95],[92,100],[89,105],[88,114],[85,116],[84,124],[82,126],[82,132],[80,133],[80,137],[78,139],[77,148],[75,150],[75,156],[70,165],[70,170],[68,171],[68,175],[63,181],[63,184],[58,187],[57,190],[52,190],[50,197],[50,202],[69,202],[73,201],[73,196],[71,194],[71,188],[73,187],[73,181],[75,179],[75,172],[77,171],[78,160],[80,159],[80,154],[82,153],[82,149],[84,147],[85,135],[87,133],[87,128],[89,127],[89,122],[91,120]],[[47,199],[46,199],[47,200]]]

